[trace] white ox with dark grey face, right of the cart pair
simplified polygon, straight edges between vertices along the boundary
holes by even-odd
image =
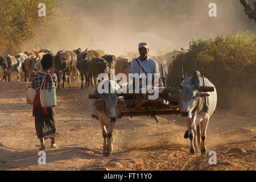
[[[184,138],[189,137],[190,139],[191,154],[195,154],[196,133],[198,144],[201,145],[201,154],[205,154],[205,137],[207,133],[207,126],[210,116],[214,113],[217,105],[216,88],[207,78],[205,78],[205,86],[213,86],[214,92],[199,92],[197,90],[199,86],[203,86],[202,79],[203,78],[200,77],[200,72],[196,71],[193,73],[192,81],[191,77],[188,77],[184,80],[183,84],[181,84],[181,115],[187,119],[186,123],[188,128],[187,132],[184,135]],[[202,139],[202,141],[200,141],[200,138]]]

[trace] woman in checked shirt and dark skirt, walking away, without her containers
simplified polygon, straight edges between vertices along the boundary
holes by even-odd
[[[32,88],[36,90],[36,96],[33,102],[33,116],[35,117],[36,134],[40,139],[41,148],[39,150],[47,150],[44,139],[51,138],[51,148],[57,148],[55,143],[56,127],[55,127],[55,111],[53,107],[42,107],[40,102],[40,87],[42,89],[52,89],[56,86],[56,75],[51,73],[49,69],[53,65],[54,58],[51,54],[46,54],[41,60],[43,73],[35,73],[32,77]]]

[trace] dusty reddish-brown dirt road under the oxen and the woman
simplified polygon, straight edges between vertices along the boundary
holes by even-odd
[[[15,80],[16,81],[16,80]],[[46,165],[38,164],[32,106],[25,82],[0,82],[0,170],[255,170],[256,122],[217,110],[210,119],[207,154],[189,154],[186,125],[176,115],[123,117],[115,125],[114,151],[102,155],[99,122],[91,117],[88,94],[79,84],[57,92],[56,143],[46,140]],[[217,164],[209,164],[216,151]]]

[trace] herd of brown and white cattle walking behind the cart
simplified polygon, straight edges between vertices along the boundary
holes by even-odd
[[[81,89],[88,86],[96,85],[97,76],[100,73],[109,75],[110,69],[115,69],[115,75],[125,73],[128,78],[130,71],[131,59],[133,57],[114,56],[105,54],[102,50],[81,48],[73,51],[58,51],[54,54],[49,49],[35,49],[18,53],[15,56],[0,56],[0,76],[1,80],[10,81],[11,73],[16,72],[18,81],[20,77],[27,81],[32,71],[39,71],[41,68],[40,61],[47,53],[51,53],[55,57],[54,64],[50,71],[57,75],[57,88],[60,89],[60,82],[64,88],[65,82],[71,82],[81,78]],[[162,64],[167,68],[166,60],[163,56],[151,56],[158,64]],[[167,69],[164,70],[167,73]],[[2,73],[2,74],[1,74]],[[84,83],[85,82],[85,83]],[[94,83],[93,83],[94,82]]]

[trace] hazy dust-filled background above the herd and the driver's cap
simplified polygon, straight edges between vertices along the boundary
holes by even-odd
[[[209,17],[209,3],[217,17]],[[249,2],[253,5],[253,0]],[[239,0],[59,0],[60,9],[24,49],[39,46],[54,52],[75,48],[102,49],[126,55],[150,44],[150,55],[163,47],[187,49],[191,40],[256,32]]]

